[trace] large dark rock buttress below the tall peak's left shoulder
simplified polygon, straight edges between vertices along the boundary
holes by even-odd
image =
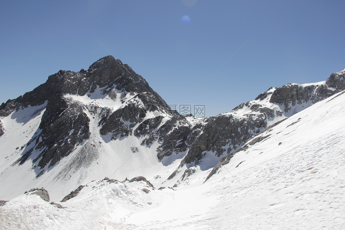
[[[56,164],[83,140],[90,137],[89,122],[90,119],[83,112],[81,105],[76,103],[67,105],[62,96],[52,102],[48,101],[40,124],[42,131],[36,142],[37,150],[43,148],[47,150],[43,150],[33,162],[41,158],[37,164],[41,168],[44,168],[49,162],[49,167]],[[71,130],[73,131],[71,132]],[[68,141],[66,141],[66,137],[68,137]],[[40,138],[41,142],[39,142]]]

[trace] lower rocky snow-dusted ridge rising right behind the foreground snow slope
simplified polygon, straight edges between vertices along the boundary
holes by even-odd
[[[180,166],[198,164],[206,153],[220,157],[235,151],[266,127],[345,90],[344,78],[342,70],[323,82],[271,87],[255,100],[208,119]]]

